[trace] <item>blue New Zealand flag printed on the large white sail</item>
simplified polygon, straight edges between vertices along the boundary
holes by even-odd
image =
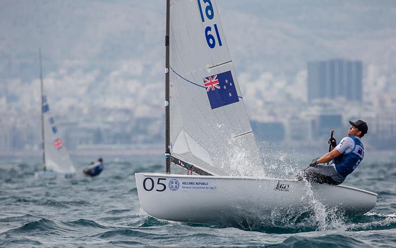
[[[231,71],[203,78],[212,109],[239,101]]]

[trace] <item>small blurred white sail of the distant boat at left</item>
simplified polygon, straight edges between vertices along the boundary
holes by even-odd
[[[76,169],[50,114],[47,97],[43,96],[45,163],[47,171],[75,172]]]

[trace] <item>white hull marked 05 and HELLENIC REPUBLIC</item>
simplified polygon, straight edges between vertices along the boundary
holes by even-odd
[[[377,202],[377,194],[369,191],[289,179],[164,173],[135,173],[135,177],[140,203],[150,216],[198,224],[254,221],[270,216],[274,209],[292,213],[311,202],[361,215]]]

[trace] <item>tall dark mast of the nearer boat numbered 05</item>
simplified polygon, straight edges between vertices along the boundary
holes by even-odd
[[[169,121],[169,9],[170,0],[166,0],[165,31],[165,173],[170,173],[170,121]]]

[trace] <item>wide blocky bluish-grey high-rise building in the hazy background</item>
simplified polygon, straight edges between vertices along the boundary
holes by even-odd
[[[343,96],[362,99],[363,66],[361,61],[331,59],[308,62],[308,100]]]

